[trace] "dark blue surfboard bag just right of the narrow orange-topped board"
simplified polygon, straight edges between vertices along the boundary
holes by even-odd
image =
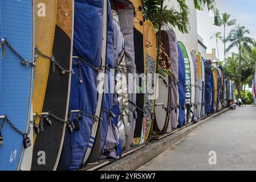
[[[210,76],[212,69],[212,61],[211,60],[205,60],[205,114],[210,114],[210,101],[212,98],[212,77]]]

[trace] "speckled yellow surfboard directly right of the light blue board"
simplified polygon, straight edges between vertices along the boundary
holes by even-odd
[[[38,50],[47,56],[52,55],[52,46],[54,43],[57,0],[36,0],[37,7],[35,18],[35,46]],[[38,53],[36,53],[38,55]],[[35,78],[33,85],[33,112],[42,113],[44,95],[48,81],[48,73],[51,65],[51,60],[38,55],[36,59]],[[39,123],[40,119],[37,119]],[[35,142],[36,137],[34,137]]]

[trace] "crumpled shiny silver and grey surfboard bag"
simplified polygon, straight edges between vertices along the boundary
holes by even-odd
[[[119,20],[117,14],[115,14],[115,18]],[[124,37],[119,24],[117,24],[115,20],[113,21],[113,32],[117,89],[113,99],[113,113],[116,115],[116,118],[113,118],[112,125],[109,125],[108,136],[101,159],[117,158],[117,155],[121,157],[122,149],[125,148],[129,135],[127,68],[124,56]]]

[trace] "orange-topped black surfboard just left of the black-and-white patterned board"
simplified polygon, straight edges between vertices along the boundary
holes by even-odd
[[[144,50],[144,23],[143,23],[143,6],[141,0],[130,0],[135,8],[134,18],[134,49],[135,49],[135,64],[137,74],[145,73],[145,50]],[[138,146],[144,143],[145,123],[144,123],[144,97],[145,97],[145,80],[140,78],[136,83],[136,111],[137,119],[133,134],[132,146]]]

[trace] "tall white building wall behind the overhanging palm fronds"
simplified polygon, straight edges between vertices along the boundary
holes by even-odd
[[[177,1],[164,1],[165,5],[168,7],[175,6],[176,10],[179,10]],[[178,28],[174,28],[174,31],[176,32],[178,41],[181,41],[184,43],[186,48],[191,51],[192,49],[195,49],[198,51],[198,43],[197,43],[197,14],[196,9],[194,8],[194,3],[191,0],[186,0],[186,4],[188,5],[190,9],[190,30],[188,34],[182,34]]]

